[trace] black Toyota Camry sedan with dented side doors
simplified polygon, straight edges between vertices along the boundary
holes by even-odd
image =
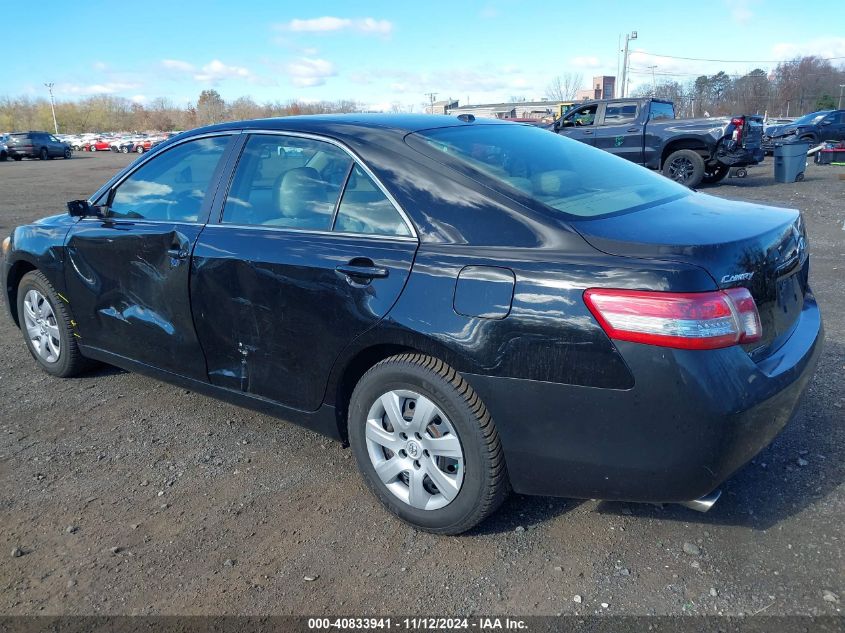
[[[422,529],[510,489],[706,509],[820,351],[800,214],[464,119],[179,135],[15,229],[11,316],[55,376],[109,363],[348,442]]]

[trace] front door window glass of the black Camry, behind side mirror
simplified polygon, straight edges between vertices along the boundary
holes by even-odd
[[[196,222],[228,136],[188,141],[150,159],[114,192],[115,218]]]

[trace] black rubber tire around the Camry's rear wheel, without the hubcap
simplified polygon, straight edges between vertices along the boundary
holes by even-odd
[[[370,407],[392,390],[410,390],[425,396],[448,417],[456,431],[463,451],[464,477],[457,496],[444,507],[414,508],[390,492],[376,474],[367,451],[365,425]],[[495,511],[510,491],[499,434],[487,408],[460,374],[431,356],[392,356],[364,374],[349,403],[349,443],[364,481],[379,501],[399,518],[426,532],[466,532]]]

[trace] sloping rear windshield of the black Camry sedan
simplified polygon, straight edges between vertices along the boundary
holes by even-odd
[[[437,128],[408,140],[505,194],[515,190],[577,218],[604,217],[690,194],[644,167],[533,126]]]

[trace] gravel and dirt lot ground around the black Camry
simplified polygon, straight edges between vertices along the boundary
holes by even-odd
[[[0,163],[0,233],[131,158]],[[417,533],[340,445],[115,369],[49,378],[4,316],[0,613],[840,613],[843,171],[775,185],[769,160],[708,191],[804,211],[827,345],[796,419],[706,515],[512,497],[469,535]]]

